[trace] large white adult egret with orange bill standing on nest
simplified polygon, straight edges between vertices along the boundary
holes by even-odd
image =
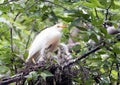
[[[62,29],[66,26],[58,23],[41,31],[32,42],[29,48],[29,55],[26,63],[39,63],[47,59],[46,54],[57,49],[62,36]]]

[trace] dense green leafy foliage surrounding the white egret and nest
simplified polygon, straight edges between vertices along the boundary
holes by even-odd
[[[88,51],[89,39],[99,43],[98,35],[107,43],[79,62],[78,66],[89,72],[81,71],[73,79],[74,84],[93,85],[97,81],[105,85],[120,84],[120,42],[110,43],[116,39],[103,28],[106,20],[119,29],[119,0],[0,0],[0,78],[12,76],[23,68],[34,36],[45,27],[62,21],[68,28],[63,31],[61,42],[68,44],[70,38],[80,42],[73,49],[74,57]],[[79,32],[71,36],[74,28]]]

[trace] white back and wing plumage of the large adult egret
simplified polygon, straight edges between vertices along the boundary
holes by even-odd
[[[29,48],[29,55],[26,59],[26,62],[29,61],[29,59],[37,52],[40,52],[42,48],[49,47],[52,42],[54,41],[60,41],[61,38],[61,28],[57,28],[56,26],[47,28],[43,31],[41,31],[32,42],[30,48]],[[58,43],[57,43],[58,44]],[[55,48],[54,48],[55,49]]]

